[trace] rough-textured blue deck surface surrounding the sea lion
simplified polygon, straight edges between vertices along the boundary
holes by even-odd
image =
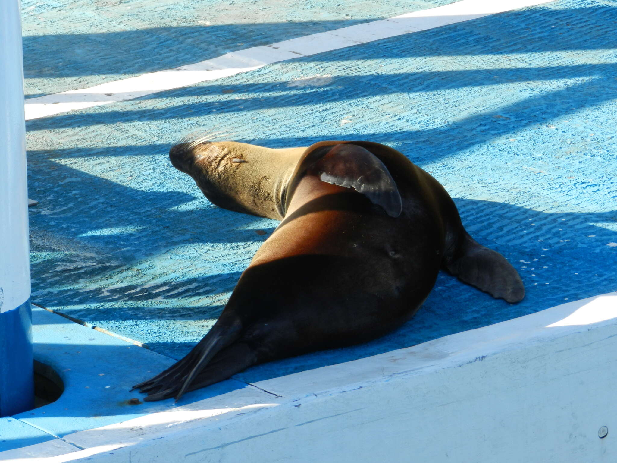
[[[313,1],[291,11],[278,1],[26,0],[25,93],[447,3]],[[271,148],[371,140],[399,149],[445,186],[467,230],[507,257],[527,289],[508,304],[441,274],[396,332],[260,365],[239,382],[616,291],[616,29],[617,1],[558,0],[30,120],[32,301],[169,359],[201,339],[276,222],[218,209],[173,169],[168,148],[199,129]]]

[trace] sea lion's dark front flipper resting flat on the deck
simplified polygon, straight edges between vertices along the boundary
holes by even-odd
[[[518,302],[525,297],[521,277],[499,252],[486,248],[465,233],[462,243],[446,259],[445,268],[465,283],[494,298]]]

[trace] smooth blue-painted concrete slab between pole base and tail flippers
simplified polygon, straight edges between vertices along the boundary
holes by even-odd
[[[174,406],[173,401],[129,403],[141,394],[131,387],[167,368],[172,359],[86,328],[44,309],[33,309],[35,358],[50,365],[64,382],[64,393],[51,404],[15,414],[14,419],[51,436],[119,423]],[[196,391],[197,401],[249,387],[236,380]],[[16,438],[15,438],[16,439]]]

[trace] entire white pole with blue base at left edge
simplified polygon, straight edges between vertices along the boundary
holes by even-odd
[[[19,0],[0,0],[0,416],[33,406]]]

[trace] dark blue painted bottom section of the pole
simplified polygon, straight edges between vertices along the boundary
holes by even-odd
[[[0,417],[34,406],[30,299],[0,313]]]

